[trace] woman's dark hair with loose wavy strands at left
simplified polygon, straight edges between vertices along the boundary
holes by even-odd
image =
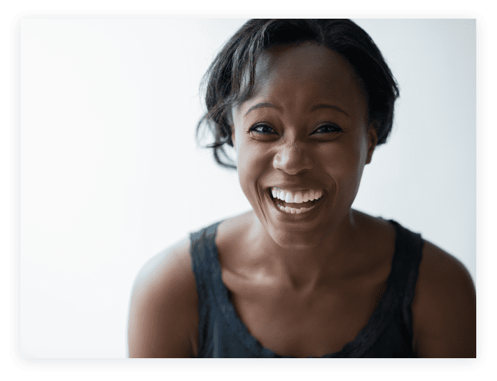
[[[362,28],[349,19],[251,19],[227,41],[202,81],[207,83],[207,113],[198,122],[196,140],[206,125],[214,143],[205,148],[213,149],[219,165],[236,169],[225,151],[225,144],[233,147],[229,118],[232,107],[244,102],[254,88],[261,53],[271,46],[307,41],[335,51],[353,66],[366,91],[368,123],[374,121],[377,145],[386,142],[399,89],[382,53]],[[246,72],[250,73],[247,84],[243,83]]]

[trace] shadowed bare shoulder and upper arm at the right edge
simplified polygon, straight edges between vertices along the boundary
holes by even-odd
[[[429,241],[413,301],[418,357],[476,357],[476,292],[471,275],[451,254]]]

